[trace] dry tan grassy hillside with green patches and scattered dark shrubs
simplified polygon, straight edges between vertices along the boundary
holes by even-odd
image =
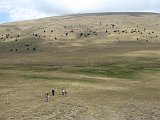
[[[160,120],[160,15],[0,24],[0,120]]]

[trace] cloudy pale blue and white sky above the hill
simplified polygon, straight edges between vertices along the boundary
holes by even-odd
[[[0,0],[0,23],[98,12],[160,13],[160,0]]]

